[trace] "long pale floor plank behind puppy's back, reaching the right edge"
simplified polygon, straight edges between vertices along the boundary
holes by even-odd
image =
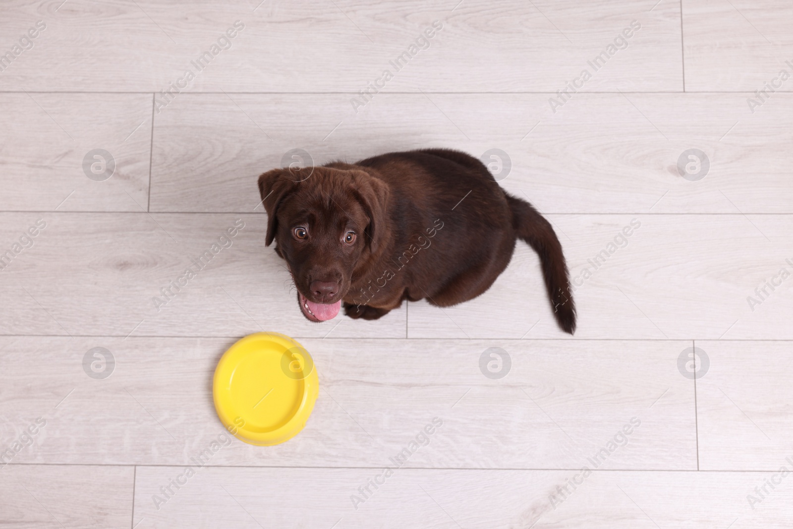
[[[355,113],[345,94],[185,94],[155,117],[151,210],[251,212],[294,148],[442,147],[504,151],[500,185],[543,213],[793,213],[793,95],[775,97],[751,114],[740,94],[577,94],[554,113],[548,94],[377,94]],[[699,181],[677,168],[691,148]]]

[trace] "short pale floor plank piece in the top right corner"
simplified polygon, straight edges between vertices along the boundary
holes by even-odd
[[[793,75],[793,67],[785,63],[793,63],[791,16],[791,6],[772,0],[683,2],[686,90],[741,90],[748,92],[742,94],[745,100],[764,90],[780,70]],[[775,84],[773,90],[793,90],[790,80]],[[747,114],[748,108],[744,102]]]

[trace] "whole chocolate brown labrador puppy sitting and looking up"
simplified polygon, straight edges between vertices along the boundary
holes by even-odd
[[[496,281],[522,239],[539,255],[559,327],[575,331],[554,229],[470,155],[425,149],[274,169],[259,191],[266,245],[276,241],[308,320],[330,320],[342,303],[347,316],[377,320],[405,299],[468,301]]]

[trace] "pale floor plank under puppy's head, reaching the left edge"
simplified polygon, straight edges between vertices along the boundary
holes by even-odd
[[[5,334],[405,335],[404,307],[375,322],[306,320],[282,259],[264,246],[263,215],[0,216],[3,251],[36,220],[47,223],[33,247],[0,270],[0,295],[14,307],[0,316]],[[229,237],[237,222],[244,227]],[[202,259],[205,252],[212,259]]]

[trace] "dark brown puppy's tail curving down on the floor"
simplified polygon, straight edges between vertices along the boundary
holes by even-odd
[[[573,334],[576,331],[576,306],[570,291],[565,255],[561,252],[561,243],[554,228],[527,201],[504,194],[512,210],[512,222],[519,238],[525,240],[539,255],[557,324],[565,332]]]

